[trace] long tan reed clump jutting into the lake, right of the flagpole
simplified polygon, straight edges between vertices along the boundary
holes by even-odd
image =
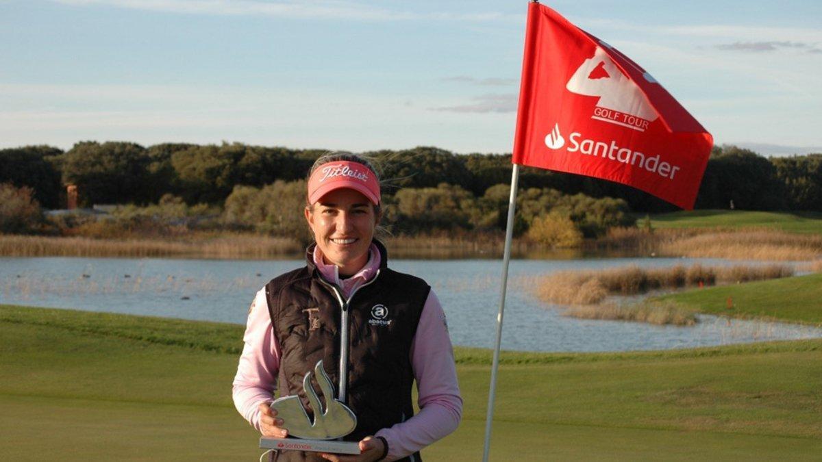
[[[548,303],[596,305],[609,295],[636,295],[658,289],[732,284],[793,275],[791,266],[677,265],[643,269],[626,266],[602,271],[560,271],[534,281],[537,295]]]

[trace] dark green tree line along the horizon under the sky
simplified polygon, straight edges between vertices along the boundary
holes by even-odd
[[[325,152],[241,143],[144,147],[130,142],[81,141],[67,151],[25,146],[0,150],[0,183],[30,187],[39,204],[49,209],[64,206],[64,185],[70,183],[78,186],[83,206],[145,206],[158,203],[166,194],[181,197],[187,205],[222,206],[238,187],[261,189],[277,181],[304,179],[314,160]],[[493,201],[487,196],[499,191],[489,190],[510,182],[510,155],[455,155],[427,146],[363,154],[379,165],[390,201],[399,204],[402,199],[404,207],[412,207],[414,201],[408,197],[412,192],[404,192],[411,188],[418,190],[413,195],[427,195],[427,201],[434,196],[437,201],[448,201],[451,210],[464,210],[461,201],[471,202],[467,207],[475,209],[446,217],[427,216],[418,224],[412,220],[406,224],[410,228],[441,219],[484,223],[477,214],[488,215],[488,204]],[[520,194],[550,190],[560,196],[617,197],[635,212],[676,210],[667,202],[613,182],[529,167],[520,172]],[[822,154],[765,158],[737,146],[715,147],[696,208],[724,209],[731,202],[740,210],[822,211]]]

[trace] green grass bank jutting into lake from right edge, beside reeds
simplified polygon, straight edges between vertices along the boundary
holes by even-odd
[[[657,299],[710,314],[822,325],[820,273],[672,293]]]

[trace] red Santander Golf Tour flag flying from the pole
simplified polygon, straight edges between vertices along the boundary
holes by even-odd
[[[690,210],[712,146],[642,67],[529,4],[512,162],[621,182]]]

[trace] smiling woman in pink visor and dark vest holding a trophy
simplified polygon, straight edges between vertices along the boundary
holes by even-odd
[[[272,409],[272,390],[279,385],[281,397],[298,395],[316,418],[322,411],[312,409],[303,379],[323,367],[337,386],[323,400],[339,400],[357,416],[343,439],[358,441],[361,453],[281,450],[275,460],[420,460],[419,450],[453,432],[462,414],[439,300],[425,281],[388,268],[386,247],[374,238],[380,182],[367,159],[350,153],[317,159],[303,213],[315,242],[305,267],[256,294],[234,404],[262,435],[288,437],[297,426]]]

